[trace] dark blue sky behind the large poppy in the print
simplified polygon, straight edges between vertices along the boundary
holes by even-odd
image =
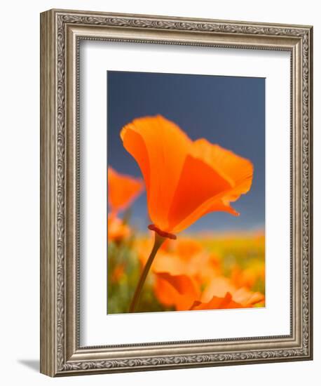
[[[265,222],[265,79],[240,76],[107,72],[108,164],[120,173],[141,176],[123,148],[121,128],[137,117],[162,114],[192,140],[207,138],[254,164],[252,188],[233,203],[240,212],[209,213],[189,232],[250,230]],[[150,221],[146,194],[132,205],[132,222]]]

